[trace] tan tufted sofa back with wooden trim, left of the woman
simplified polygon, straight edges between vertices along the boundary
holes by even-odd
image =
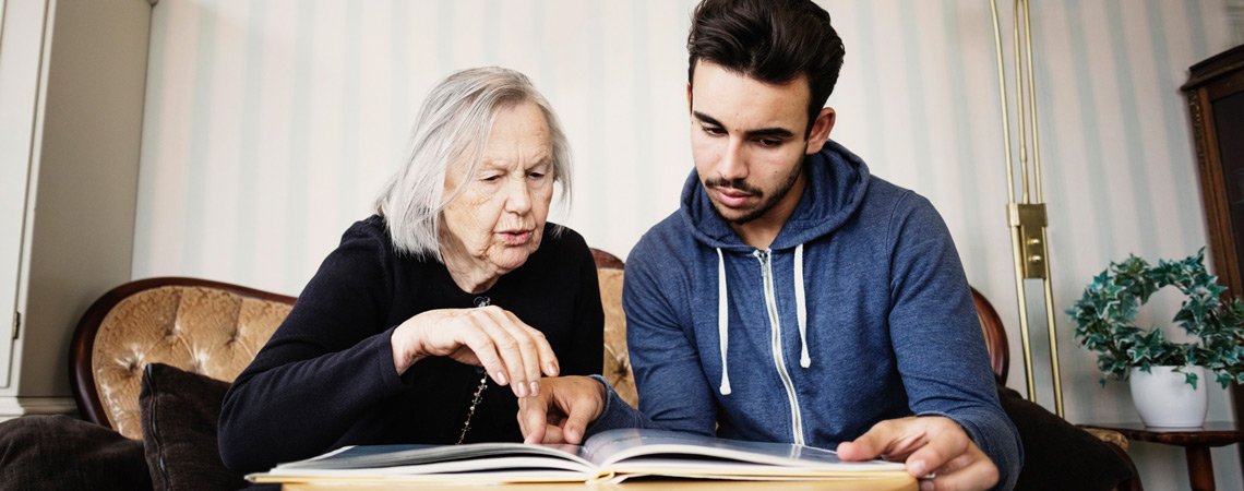
[[[148,363],[233,380],[292,305],[294,297],[175,277],[104,293],[73,334],[70,363],[78,413],[142,439],[138,392]]]

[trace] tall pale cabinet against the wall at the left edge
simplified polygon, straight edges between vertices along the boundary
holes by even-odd
[[[131,278],[151,15],[0,0],[0,420],[73,413],[77,318]]]

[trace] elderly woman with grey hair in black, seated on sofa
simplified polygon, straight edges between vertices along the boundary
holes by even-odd
[[[265,471],[342,445],[522,439],[541,375],[598,373],[596,267],[546,223],[570,152],[522,75],[452,75],[409,159],[225,397],[220,452]]]

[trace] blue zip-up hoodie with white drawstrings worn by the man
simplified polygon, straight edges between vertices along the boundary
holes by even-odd
[[[626,265],[639,392],[590,433],[649,426],[833,449],[893,418],[958,421],[998,465],[1023,462],[970,291],[940,215],[827,142],[769,250],[743,242],[693,170],[682,208]],[[715,430],[714,430],[715,429]]]

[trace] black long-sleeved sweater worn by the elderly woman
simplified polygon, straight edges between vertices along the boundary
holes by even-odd
[[[596,266],[583,237],[557,227],[545,226],[526,264],[471,295],[443,264],[399,256],[384,219],[356,223],[225,395],[225,465],[254,472],[343,445],[453,444],[481,372],[433,357],[398,377],[389,339],[417,313],[473,307],[479,296],[544,332],[561,374],[600,373]],[[516,415],[513,392],[490,379],[466,441],[520,441]]]

